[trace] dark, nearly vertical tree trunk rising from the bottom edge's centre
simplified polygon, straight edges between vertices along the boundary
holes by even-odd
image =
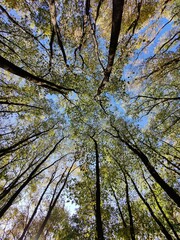
[[[100,190],[100,169],[99,169],[99,152],[97,141],[91,137],[94,141],[96,151],[96,231],[97,239],[104,240],[102,218],[101,218],[101,190]]]

